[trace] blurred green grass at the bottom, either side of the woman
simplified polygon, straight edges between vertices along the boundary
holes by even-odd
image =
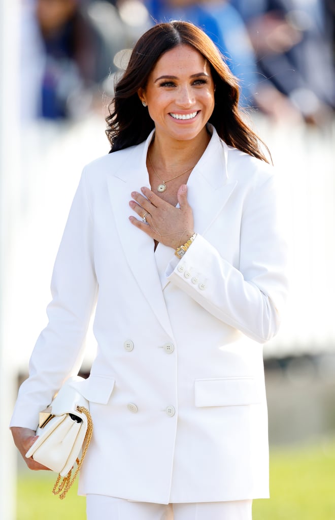
[[[335,520],[335,439],[273,449],[270,459],[271,499],[253,502],[253,520]],[[54,475],[21,473],[17,520],[85,519],[76,485],[64,500],[52,495]]]

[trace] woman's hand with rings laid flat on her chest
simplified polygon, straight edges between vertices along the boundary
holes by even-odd
[[[177,249],[194,233],[193,211],[187,201],[187,186],[182,184],[177,193],[180,207],[175,207],[161,199],[149,188],[141,188],[141,193],[133,191],[129,205],[141,218],[145,215],[146,223],[135,217],[130,222],[144,231],[154,240],[170,248]]]

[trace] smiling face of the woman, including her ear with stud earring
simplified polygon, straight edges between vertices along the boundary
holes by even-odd
[[[155,123],[156,136],[191,140],[206,133],[214,108],[214,83],[208,61],[189,45],[168,50],[140,89]]]

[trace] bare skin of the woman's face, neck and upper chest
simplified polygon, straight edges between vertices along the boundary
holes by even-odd
[[[147,164],[151,188],[163,193],[169,182],[169,193],[162,198],[173,205],[180,184],[186,184],[208,145],[206,123],[214,109],[214,92],[208,61],[189,45],[166,51],[138,90],[155,125]]]

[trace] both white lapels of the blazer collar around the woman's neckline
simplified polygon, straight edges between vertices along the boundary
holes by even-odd
[[[194,213],[194,229],[202,235],[222,211],[236,185],[229,183],[228,149],[211,125],[209,131],[212,133],[210,142],[187,182],[188,200]],[[133,226],[128,218],[131,215],[128,205],[131,191],[139,191],[142,186],[150,188],[146,154],[153,134],[154,130],[142,144],[122,151],[116,170],[108,175],[108,189],[115,225],[128,265],[157,319],[169,336],[173,337],[157,271],[154,242]],[[168,263],[173,250],[159,244],[156,255],[163,255]]]

